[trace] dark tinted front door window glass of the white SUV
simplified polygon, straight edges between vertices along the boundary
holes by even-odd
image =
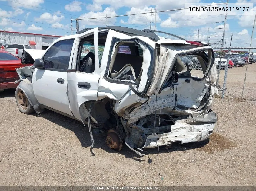
[[[55,43],[43,57],[45,68],[67,70],[74,39]]]

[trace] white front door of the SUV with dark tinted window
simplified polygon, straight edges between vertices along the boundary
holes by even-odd
[[[39,103],[71,116],[67,72],[71,67],[74,41],[61,40],[52,45],[42,57],[45,67],[35,68],[33,74],[33,89]]]

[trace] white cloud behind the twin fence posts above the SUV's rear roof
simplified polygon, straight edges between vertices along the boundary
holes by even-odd
[[[145,13],[145,12],[150,12],[151,9],[152,9],[152,11],[154,11],[154,8],[147,7],[147,6],[145,6],[144,8],[132,7],[130,11],[126,12],[126,14],[135,14],[135,13],[143,13],[143,12]],[[130,16],[128,16],[128,21],[127,22],[125,22],[123,20],[121,20],[120,22],[122,24],[145,24],[145,26],[150,25],[150,15],[149,14],[130,15]],[[151,22],[154,25],[154,22],[155,22],[154,13],[152,13],[152,21]],[[156,15],[156,22],[157,23],[161,22],[161,19],[160,19],[158,14]]]

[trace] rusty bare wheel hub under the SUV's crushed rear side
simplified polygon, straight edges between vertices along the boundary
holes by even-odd
[[[123,147],[120,135],[113,129],[110,129],[107,132],[106,144],[109,148],[114,149],[115,151],[120,151]]]

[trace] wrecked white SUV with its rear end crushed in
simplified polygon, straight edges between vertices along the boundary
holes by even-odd
[[[144,148],[205,140],[217,122],[213,49],[156,33],[164,32],[87,28],[44,52],[24,50],[22,63],[34,65],[17,69],[19,110],[77,119],[88,125],[92,146],[94,128],[107,132],[108,147],[120,151],[125,142],[140,156]],[[196,57],[201,69],[183,56]]]

